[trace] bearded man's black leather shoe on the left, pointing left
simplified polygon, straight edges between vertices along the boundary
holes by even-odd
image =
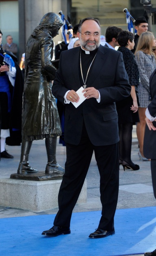
[[[59,236],[60,234],[70,234],[70,227],[53,226],[49,230],[42,232],[45,236]]]

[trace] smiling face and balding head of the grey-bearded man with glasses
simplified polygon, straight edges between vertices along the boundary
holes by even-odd
[[[100,46],[100,27],[95,20],[85,20],[78,32],[82,49],[93,51]]]

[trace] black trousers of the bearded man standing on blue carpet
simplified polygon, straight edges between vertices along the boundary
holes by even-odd
[[[100,199],[102,217],[99,228],[114,230],[114,215],[119,191],[119,150],[118,143],[106,146],[94,146],[87,135],[85,126],[79,145],[66,143],[67,160],[65,174],[58,193],[58,213],[55,226],[70,226],[72,210],[78,200],[87,171],[95,152],[100,173]]]

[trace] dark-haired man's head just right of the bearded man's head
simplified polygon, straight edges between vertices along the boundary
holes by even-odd
[[[119,32],[122,30],[122,28],[117,28],[115,26],[109,26],[106,29],[106,34],[105,34],[105,47],[115,49],[116,46],[119,46],[119,43],[117,42],[117,36]]]

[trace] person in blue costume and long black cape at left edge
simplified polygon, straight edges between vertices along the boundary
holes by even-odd
[[[12,56],[12,58],[11,58]],[[1,158],[13,158],[5,144],[21,145],[23,81],[16,57],[2,47],[0,31],[0,152]]]

